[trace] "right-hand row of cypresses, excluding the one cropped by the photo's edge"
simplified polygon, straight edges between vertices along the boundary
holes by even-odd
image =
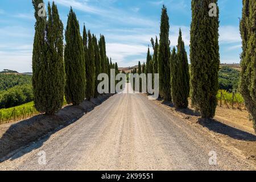
[[[217,4],[217,0],[213,2]],[[166,6],[162,8],[159,45],[157,38],[155,42],[151,39],[154,54],[151,58],[148,48],[146,68],[151,68],[152,59],[152,73],[159,73],[160,97],[172,101],[177,108],[186,108],[191,92],[192,104],[200,110],[201,116],[212,118],[217,106],[220,64],[218,13],[216,17],[209,16],[208,6],[212,0],[192,0],[191,3],[191,76],[181,30],[177,49],[170,49],[170,24]]]

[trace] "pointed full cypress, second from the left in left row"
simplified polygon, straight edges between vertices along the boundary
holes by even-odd
[[[66,72],[65,98],[68,103],[79,105],[85,99],[85,54],[79,22],[72,8],[65,31],[64,61]]]

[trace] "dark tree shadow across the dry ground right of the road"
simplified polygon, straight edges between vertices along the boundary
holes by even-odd
[[[227,135],[233,139],[245,140],[250,142],[256,141],[255,135],[236,129],[232,126],[225,125],[224,123],[221,123],[216,119],[199,118],[198,123],[201,126],[207,127],[209,130],[214,131],[215,133]]]

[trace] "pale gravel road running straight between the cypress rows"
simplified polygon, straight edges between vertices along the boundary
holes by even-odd
[[[45,154],[46,163],[38,154]],[[210,165],[214,154],[217,165],[214,160]],[[18,151],[0,169],[245,170],[255,166],[147,97],[116,94],[72,125]]]

